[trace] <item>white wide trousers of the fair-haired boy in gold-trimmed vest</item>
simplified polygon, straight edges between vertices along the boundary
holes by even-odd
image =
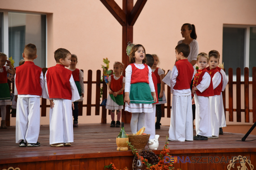
[[[212,137],[211,107],[209,97],[194,94],[196,104],[196,133],[201,136]]]

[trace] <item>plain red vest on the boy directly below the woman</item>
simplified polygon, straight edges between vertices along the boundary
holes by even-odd
[[[194,68],[187,59],[178,60],[175,63],[178,70],[175,90],[190,89],[191,80],[193,79]]]

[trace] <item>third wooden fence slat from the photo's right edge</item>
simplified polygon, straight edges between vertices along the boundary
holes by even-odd
[[[236,121],[241,122],[241,69],[236,69]]]

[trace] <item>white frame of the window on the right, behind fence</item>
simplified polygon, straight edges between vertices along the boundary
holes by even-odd
[[[256,27],[255,25],[233,25],[233,24],[223,24],[224,27],[229,28],[245,28],[245,44],[244,44],[244,67],[249,68],[249,62],[250,62],[250,27]],[[222,49],[223,50],[223,49]],[[222,56],[223,57],[223,56]],[[236,72],[236,70],[233,70],[233,73]],[[226,76],[228,77],[228,70],[226,70]],[[233,75],[233,81],[236,81],[236,75]],[[244,75],[241,75],[241,81],[244,81]],[[252,77],[249,77],[249,81],[252,81]]]

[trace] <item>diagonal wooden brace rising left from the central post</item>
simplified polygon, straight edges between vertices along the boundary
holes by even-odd
[[[126,14],[117,5],[117,3],[114,0],[100,0],[100,1],[122,26],[126,26]]]

